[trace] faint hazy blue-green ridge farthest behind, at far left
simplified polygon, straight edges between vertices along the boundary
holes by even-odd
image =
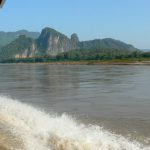
[[[19,35],[26,35],[27,37],[36,39],[40,35],[39,32],[29,32],[27,30],[19,30],[16,32],[0,31],[0,48],[15,40]]]

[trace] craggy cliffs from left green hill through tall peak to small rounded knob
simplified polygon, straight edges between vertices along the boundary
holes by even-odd
[[[66,35],[46,27],[35,40],[25,35],[19,36],[16,40],[1,49],[0,58],[56,56],[61,52],[79,49],[78,45],[79,39],[77,34],[72,34],[70,39]]]

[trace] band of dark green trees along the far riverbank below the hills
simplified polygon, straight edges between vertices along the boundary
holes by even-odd
[[[33,63],[51,62],[58,64],[99,64],[99,63],[134,63],[150,62],[150,52],[120,51],[117,49],[101,50],[72,50],[59,53],[57,56],[42,56],[30,58],[9,58],[1,60],[2,63]]]

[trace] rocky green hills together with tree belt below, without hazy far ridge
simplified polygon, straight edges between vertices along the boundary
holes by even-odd
[[[23,33],[23,31],[22,31]],[[37,39],[25,35],[0,50],[0,62],[83,62],[83,61],[140,61],[149,60],[150,52],[142,52],[130,44],[111,38],[79,41],[77,34],[71,38],[44,28]]]

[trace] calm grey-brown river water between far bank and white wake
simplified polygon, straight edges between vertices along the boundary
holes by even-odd
[[[150,66],[6,64],[0,72],[0,95],[141,141],[150,137]]]

